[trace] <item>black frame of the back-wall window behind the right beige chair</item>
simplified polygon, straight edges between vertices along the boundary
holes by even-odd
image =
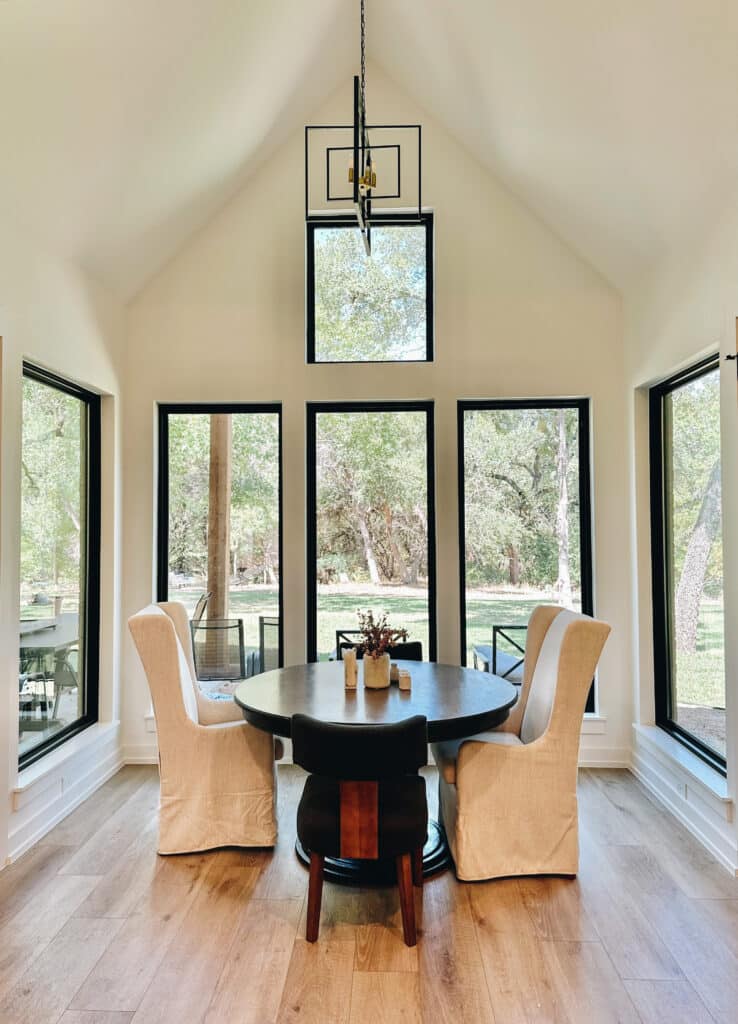
[[[459,468],[459,581],[461,613],[461,665],[467,660],[467,559],[466,559],[466,487],[464,459],[464,417],[467,412],[493,410],[574,409],[578,419],[579,456],[579,564],[581,610],[593,615],[595,608],[594,548],[592,521],[592,439],[590,398],[475,398],[457,403],[457,439]],[[489,629],[491,634],[492,624]],[[595,681],[587,698],[587,714],[597,711]]]

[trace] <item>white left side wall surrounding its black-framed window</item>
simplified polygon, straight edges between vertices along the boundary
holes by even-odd
[[[119,729],[85,730],[18,777],[17,679],[21,365],[25,358],[102,398],[100,719],[120,715],[119,542],[121,304],[38,240],[2,224],[0,337],[0,866],[37,839],[120,763]]]

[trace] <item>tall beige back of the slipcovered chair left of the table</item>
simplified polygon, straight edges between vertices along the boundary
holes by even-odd
[[[186,611],[184,618],[186,622]],[[168,733],[178,731],[187,719],[199,722],[197,684],[190,662],[180,642],[179,631],[165,607],[149,604],[131,615],[128,629],[148,681],[161,749],[167,742]],[[187,633],[188,626],[185,627],[185,635]]]

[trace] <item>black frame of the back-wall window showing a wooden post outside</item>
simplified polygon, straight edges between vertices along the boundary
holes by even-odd
[[[218,413],[229,413],[233,416],[244,414],[272,414],[277,418],[278,440],[278,553],[279,553],[279,655],[278,667],[285,666],[285,473],[284,473],[284,425],[281,402],[159,402],[158,403],[158,435],[159,458],[157,467],[157,600],[169,599],[169,417],[200,414],[213,416]]]

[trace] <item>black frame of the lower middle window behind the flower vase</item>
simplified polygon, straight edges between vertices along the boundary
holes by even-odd
[[[307,660],[317,662],[317,460],[316,424],[320,413],[425,413],[428,518],[428,660],[438,656],[436,564],[435,402],[309,401],[306,407],[307,445]]]

